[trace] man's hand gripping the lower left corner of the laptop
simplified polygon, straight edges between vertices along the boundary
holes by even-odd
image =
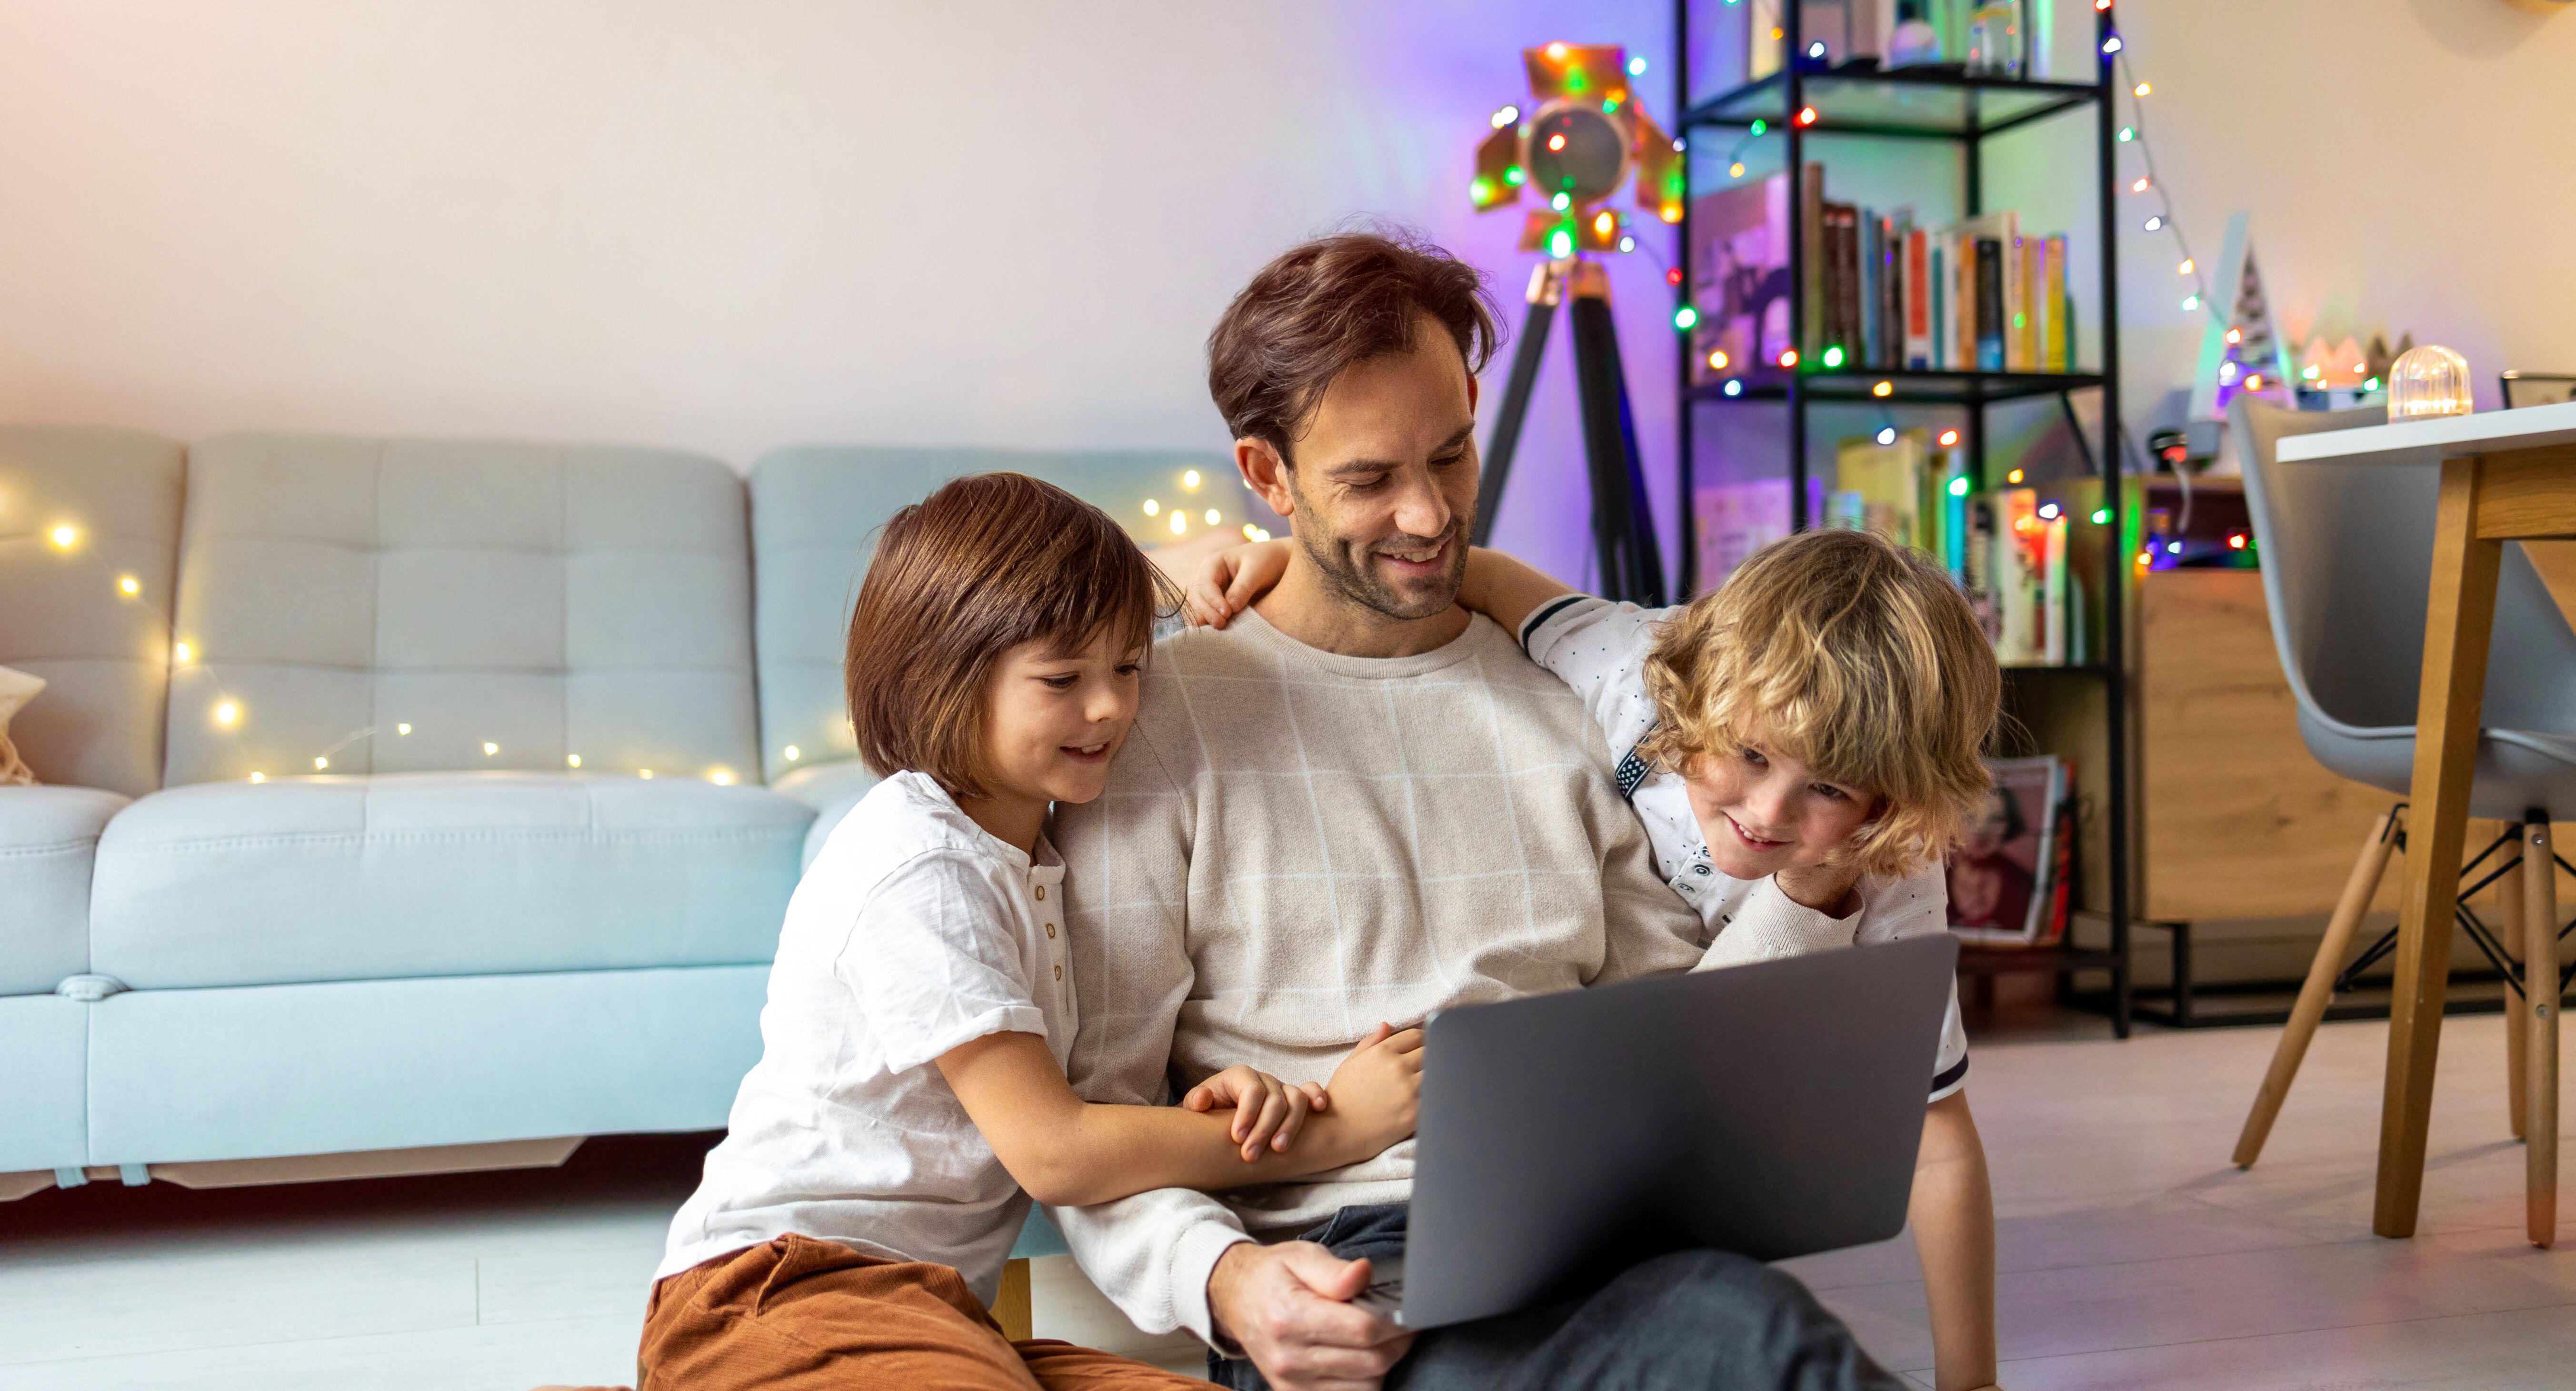
[[[1275,1391],[1378,1391],[1414,1334],[1350,1303],[1365,1288],[1365,1260],[1236,1242],[1208,1273],[1208,1309]]]

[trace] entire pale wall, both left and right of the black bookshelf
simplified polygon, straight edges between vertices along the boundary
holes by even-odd
[[[2081,57],[2089,5],[2061,8]],[[2184,227],[2215,258],[2249,209],[2287,327],[2385,322],[2481,379],[2576,371],[2576,18],[2117,15]],[[1484,113],[1522,93],[1522,44],[1662,62],[1667,26],[1659,0],[5,0],[0,417],[734,464],[824,438],[1216,448],[1208,325],[1350,214],[1468,255],[1517,319],[1517,219],[1463,198]],[[1641,82],[1656,116],[1667,80]],[[1996,178],[2089,178],[2069,139]],[[2138,216],[2125,392],[2146,428],[2197,327]],[[1643,258],[1613,276],[1662,479],[1669,301]],[[1558,343],[1502,541],[1582,577],[1582,515]]]

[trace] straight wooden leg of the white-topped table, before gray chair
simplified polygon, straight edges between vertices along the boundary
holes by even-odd
[[[2442,1051],[2460,842],[2478,757],[2486,644],[2496,626],[2501,541],[2476,533],[2478,459],[2442,461],[2432,587],[2424,603],[2424,688],[2416,701],[2414,793],[2406,814],[2406,896],[2398,902],[2396,997],[2388,1007],[2388,1087],[2380,1097],[2380,1182],[2370,1229],[2414,1236],[2424,1198],[2432,1069]]]

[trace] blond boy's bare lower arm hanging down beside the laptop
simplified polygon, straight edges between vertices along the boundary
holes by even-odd
[[[1924,1113],[1911,1218],[1932,1306],[1935,1383],[1994,1386],[1994,1193],[1968,1092],[1950,1092]]]

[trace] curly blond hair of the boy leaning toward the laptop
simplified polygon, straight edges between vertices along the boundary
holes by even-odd
[[[1868,531],[1806,531],[1664,621],[1646,657],[1662,721],[1638,757],[1690,775],[1747,742],[1878,793],[1862,873],[1940,858],[1986,793],[2002,672],[1932,556]]]

